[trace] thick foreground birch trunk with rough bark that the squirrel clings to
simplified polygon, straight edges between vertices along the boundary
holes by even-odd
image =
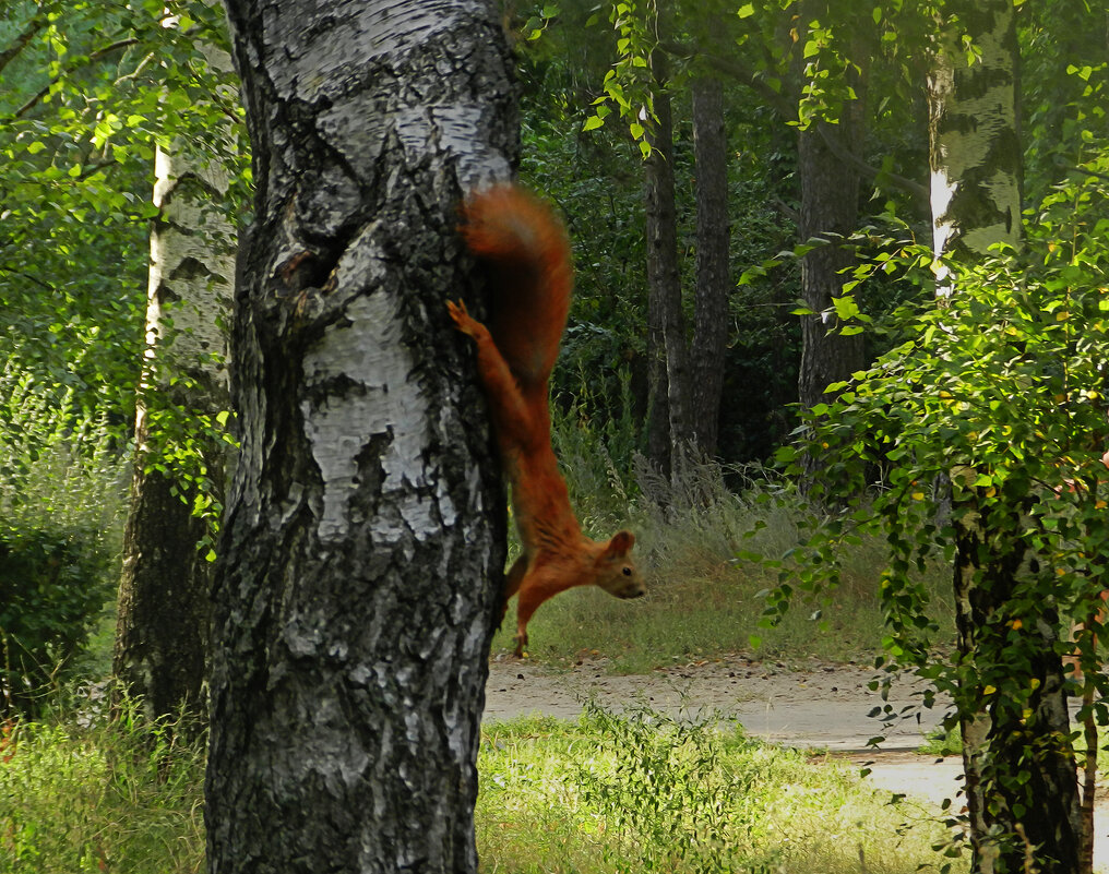
[[[491,0],[227,6],[257,193],[210,870],[472,872],[506,505],[445,304],[459,199],[516,155],[510,54]]]

